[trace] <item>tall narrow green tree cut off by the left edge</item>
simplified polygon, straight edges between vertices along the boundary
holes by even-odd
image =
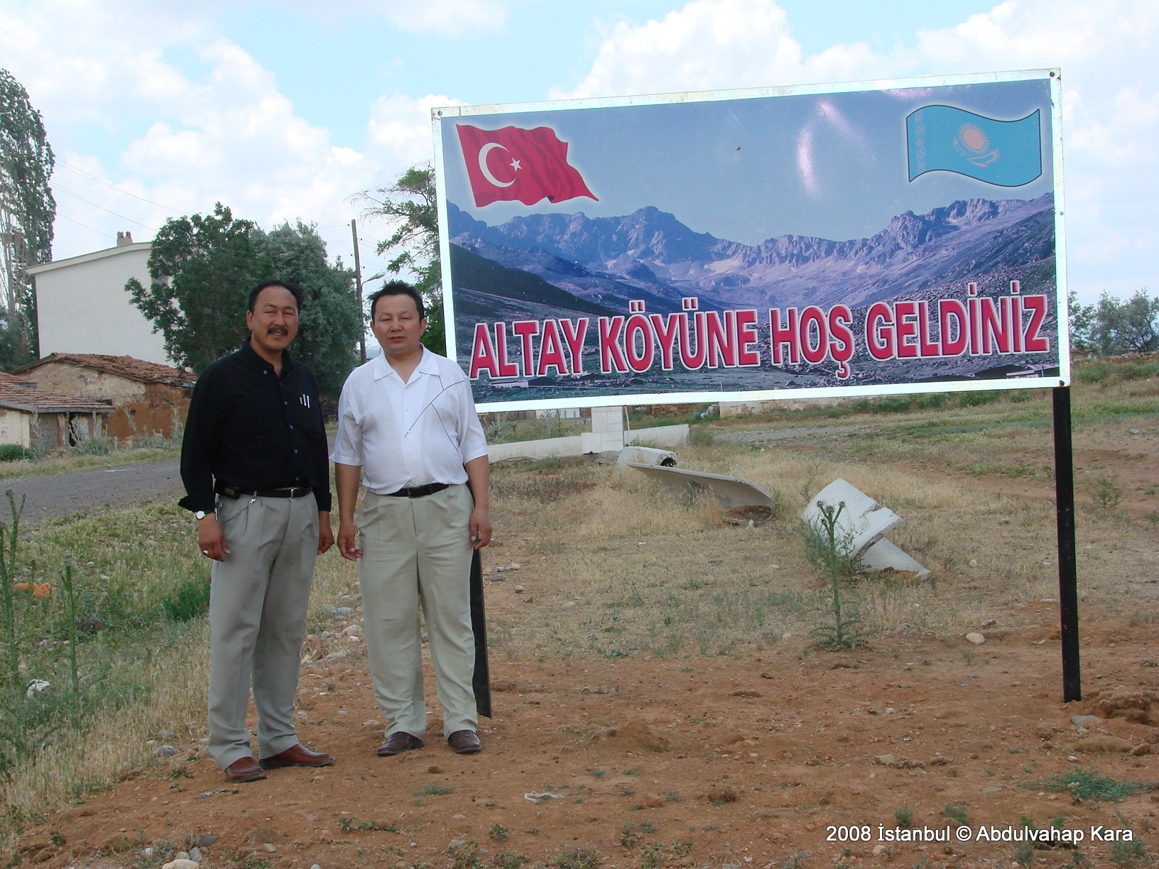
[[[56,159],[28,92],[0,70],[0,305],[16,358],[36,349],[36,297],[25,269],[52,258]]]

